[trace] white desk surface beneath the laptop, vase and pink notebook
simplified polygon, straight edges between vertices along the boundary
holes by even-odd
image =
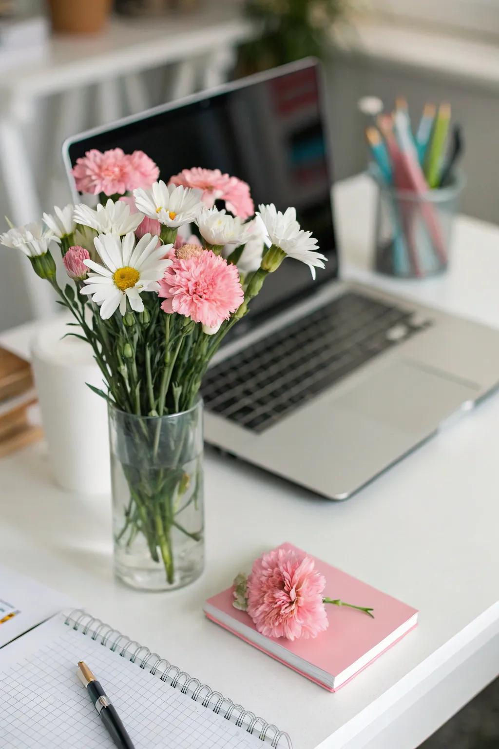
[[[361,277],[371,213],[364,178],[337,187],[348,272]],[[441,279],[377,282],[499,324],[499,229],[462,217],[455,250]],[[2,339],[22,345],[22,333]],[[208,452],[206,572],[165,595],[114,582],[108,499],[56,488],[40,444],[0,463],[0,560],[287,730],[296,749],[414,749],[499,673],[498,431],[496,397],[345,503]],[[420,609],[416,630],[337,694],[201,613],[207,595],[284,540]]]

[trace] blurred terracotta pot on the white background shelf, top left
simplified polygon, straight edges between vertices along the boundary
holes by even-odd
[[[63,34],[97,34],[111,13],[112,0],[49,0],[52,29]]]

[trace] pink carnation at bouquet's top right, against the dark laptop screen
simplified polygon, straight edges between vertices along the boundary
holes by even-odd
[[[207,208],[211,208],[216,200],[224,200],[227,210],[234,216],[248,219],[254,214],[249,185],[236,177],[222,175],[220,169],[201,169],[199,166],[183,169],[171,178],[170,184],[202,189],[201,199]]]

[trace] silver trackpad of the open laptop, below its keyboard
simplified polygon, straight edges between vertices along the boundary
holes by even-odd
[[[335,401],[373,422],[401,431],[434,431],[438,423],[477,397],[480,387],[437,369],[397,361]]]

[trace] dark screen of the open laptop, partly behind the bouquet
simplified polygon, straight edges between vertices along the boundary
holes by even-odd
[[[165,181],[193,166],[221,169],[248,182],[255,206],[272,202],[280,210],[296,207],[301,227],[312,231],[328,257],[326,270],[318,270],[313,282],[304,264],[284,261],[251,303],[246,324],[236,326],[242,333],[251,321],[280,312],[337,274],[327,133],[319,99],[317,64],[288,66],[84,133],[67,142],[68,156],[74,165],[91,148],[140,149],[157,163]]]

